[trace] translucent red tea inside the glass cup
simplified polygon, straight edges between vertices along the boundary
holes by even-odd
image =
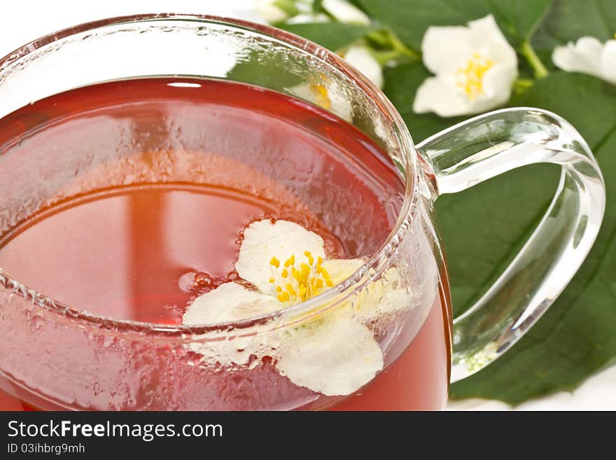
[[[0,155],[0,174],[40,170],[31,180],[49,181],[43,204],[1,229],[2,270],[76,309],[148,323],[179,324],[197,296],[237,280],[249,223],[299,223],[328,256],[363,258],[385,242],[405,192],[388,156],[344,120],[222,81],[148,78],[50,97],[0,120]],[[63,174],[45,176],[58,165]],[[257,370],[295,395],[285,409],[440,408],[450,324],[439,289],[397,361],[342,402],[272,377],[267,362]],[[0,407],[54,407],[20,397],[0,396]]]

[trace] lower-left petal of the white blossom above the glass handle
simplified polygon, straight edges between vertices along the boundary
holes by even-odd
[[[471,111],[471,102],[451,83],[442,78],[430,77],[417,89],[413,111],[434,112],[442,117],[465,115]]]

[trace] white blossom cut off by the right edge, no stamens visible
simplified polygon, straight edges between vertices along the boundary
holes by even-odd
[[[552,53],[556,67],[590,74],[616,85],[616,36],[605,44],[592,36],[557,46]]]

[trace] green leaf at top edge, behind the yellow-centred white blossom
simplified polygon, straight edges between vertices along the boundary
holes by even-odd
[[[431,25],[465,25],[493,14],[514,46],[528,39],[552,0],[359,0],[367,13],[414,50]]]

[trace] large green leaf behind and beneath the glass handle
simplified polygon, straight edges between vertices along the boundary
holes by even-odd
[[[608,188],[608,206],[601,232],[568,288],[510,351],[451,388],[453,398],[494,398],[517,404],[554,391],[573,389],[616,356],[616,87],[591,76],[556,73],[535,83],[512,104],[538,106],[568,119],[594,149]],[[546,181],[549,187],[535,183],[535,179],[540,179],[535,170],[538,167],[523,168],[517,176],[506,174],[479,184],[468,190],[469,193],[451,195],[449,201],[441,202],[444,197],[437,201],[436,211],[458,302],[464,297],[475,299],[491,282],[475,284],[480,277],[467,271],[482,272],[484,265],[493,260],[494,252],[501,253],[503,245],[509,246],[510,253],[496,270],[500,272],[528,237],[542,208],[547,205],[554,193],[554,177]],[[493,181],[498,186],[490,190],[488,184]],[[528,190],[526,193],[519,190],[521,195],[516,197],[511,191],[515,188]],[[500,200],[487,196],[490,191]],[[479,212],[481,202],[477,195],[481,196],[484,209],[489,211]],[[494,204],[496,208],[491,207]],[[531,208],[532,212],[521,209],[524,207]],[[503,209],[508,214],[505,221],[501,221],[505,218]],[[465,218],[467,213],[479,222]],[[533,213],[536,213],[534,217]],[[482,225],[491,227],[492,239],[484,237],[487,230],[473,233]],[[507,229],[507,225],[512,229]],[[521,238],[510,239],[515,234]],[[472,239],[481,241],[469,242],[459,235],[474,235]],[[463,258],[463,261],[456,258]]]

